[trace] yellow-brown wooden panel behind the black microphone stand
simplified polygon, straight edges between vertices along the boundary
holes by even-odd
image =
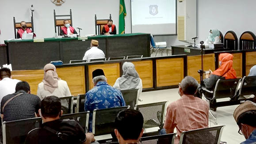
[[[202,69],[201,56],[188,56],[187,57],[187,76],[192,76],[200,82],[200,75],[198,70]],[[214,54],[203,55],[203,70],[215,70]]]

